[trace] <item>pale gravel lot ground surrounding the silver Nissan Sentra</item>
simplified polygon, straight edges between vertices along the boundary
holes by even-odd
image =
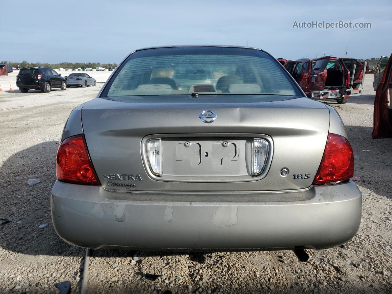
[[[68,72],[62,73],[63,76]],[[90,72],[96,87],[51,93],[7,91],[0,80],[0,293],[56,293],[71,281],[80,292],[85,250],[62,241],[51,225],[49,193],[58,140],[71,109],[94,98],[111,72]],[[4,91],[5,90],[5,91]],[[172,254],[97,250],[90,259],[88,293],[391,293],[391,139],[371,138],[374,91],[344,105],[341,115],[354,149],[363,193],[362,223],[341,247],[308,250],[300,263],[291,251]],[[27,180],[39,183],[29,185]],[[47,225],[46,225],[47,224]],[[162,275],[155,281],[143,274]]]

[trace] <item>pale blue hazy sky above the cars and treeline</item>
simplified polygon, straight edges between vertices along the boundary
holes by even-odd
[[[155,45],[229,44],[275,57],[371,58],[392,52],[392,1],[1,0],[0,60],[119,63]],[[298,29],[297,22],[370,22],[370,29]]]

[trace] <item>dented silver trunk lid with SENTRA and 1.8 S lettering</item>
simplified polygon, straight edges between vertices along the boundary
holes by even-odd
[[[328,135],[329,111],[303,97],[265,95],[96,98],[82,109],[83,131],[103,187],[136,191],[270,191],[309,187]],[[202,111],[217,118],[204,123]],[[146,143],[161,139],[162,175]],[[250,143],[269,142],[266,169],[250,174]],[[189,146],[186,146],[188,143]],[[226,145],[226,146],[224,146]],[[208,155],[206,154],[208,153]],[[269,157],[268,157],[269,156]],[[289,174],[282,176],[287,168]],[[296,176],[296,175],[302,176]]]

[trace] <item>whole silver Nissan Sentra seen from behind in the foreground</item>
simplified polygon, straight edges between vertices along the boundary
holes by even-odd
[[[358,230],[353,173],[338,113],[265,51],[140,49],[65,123],[52,220],[91,249],[324,249]]]

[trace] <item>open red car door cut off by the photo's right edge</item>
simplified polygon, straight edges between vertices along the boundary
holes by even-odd
[[[392,55],[376,90],[373,114],[373,138],[392,138]]]

